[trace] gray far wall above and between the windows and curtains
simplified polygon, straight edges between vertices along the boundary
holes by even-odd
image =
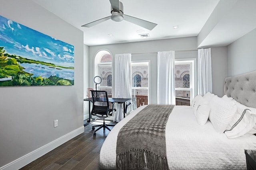
[[[186,37],[178,39],[164,39],[154,41],[144,41],[135,43],[122,43],[112,45],[99,45],[89,47],[89,70],[93,70],[93,62],[96,53],[101,49],[107,49],[113,56],[122,53],[151,53],[152,54],[135,54],[132,55],[132,61],[150,61],[150,101],[151,104],[156,104],[156,89],[157,89],[157,52],[158,51],[179,51],[196,49],[196,37]],[[193,58],[197,55],[193,55]],[[89,85],[94,87],[93,72],[89,72]]]

